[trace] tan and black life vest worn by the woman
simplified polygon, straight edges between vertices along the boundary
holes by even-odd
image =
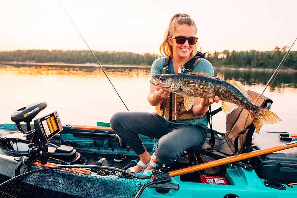
[[[190,72],[195,64],[197,58],[205,58],[205,53],[197,52],[196,55],[191,58],[182,68],[182,73]],[[171,57],[166,58],[162,74],[170,74],[168,66]],[[187,111],[184,107],[184,97],[182,95],[170,93],[169,97],[160,101],[160,104],[156,106],[156,113],[162,116],[166,120],[178,121],[178,120],[192,120],[196,118],[202,118],[204,115],[194,115],[192,108]]]

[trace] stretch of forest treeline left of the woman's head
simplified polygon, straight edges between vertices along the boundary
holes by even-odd
[[[156,54],[136,54],[132,52],[99,52],[93,51],[100,64],[108,65],[151,65],[156,60]],[[88,50],[16,50],[0,52],[0,62],[20,61],[35,63],[96,63],[94,56]]]

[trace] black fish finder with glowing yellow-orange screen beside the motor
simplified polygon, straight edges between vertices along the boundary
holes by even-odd
[[[37,138],[39,139],[38,143],[41,145],[47,143],[48,140],[63,129],[59,115],[56,111],[34,120],[34,128]]]

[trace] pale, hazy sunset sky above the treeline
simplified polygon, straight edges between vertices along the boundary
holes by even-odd
[[[203,52],[274,50],[297,37],[296,0],[61,0],[91,50],[159,54],[170,18],[195,21]],[[0,51],[88,50],[59,0],[0,0]],[[297,43],[291,50],[297,50]]]

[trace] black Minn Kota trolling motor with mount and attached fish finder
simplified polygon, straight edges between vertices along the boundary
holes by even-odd
[[[15,111],[11,115],[11,120],[15,122],[21,133],[10,132],[0,138],[0,145],[6,149],[6,152],[19,161],[15,175],[20,175],[20,168],[23,164],[30,164],[32,161],[39,159],[40,164],[47,164],[48,158],[67,161],[68,163],[80,162],[80,153],[72,146],[56,145],[49,140],[58,138],[59,133],[63,130],[58,113],[55,111],[46,116],[34,120],[34,128],[31,121],[45,107],[45,102],[30,104]],[[20,122],[26,123],[26,130]],[[31,129],[31,127],[33,129]],[[25,134],[25,135],[24,135]],[[56,142],[53,140],[52,142]],[[29,147],[29,148],[28,148]]]

